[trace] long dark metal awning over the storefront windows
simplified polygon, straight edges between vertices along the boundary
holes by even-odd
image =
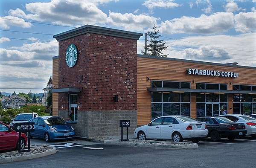
[[[188,89],[172,87],[148,87],[148,92],[173,92],[173,93],[231,93],[231,94],[255,94],[256,91],[248,90],[214,90],[214,89]]]

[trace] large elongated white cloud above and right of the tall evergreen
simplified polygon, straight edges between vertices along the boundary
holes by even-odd
[[[209,16],[202,14],[200,17],[186,17],[166,20],[161,23],[160,32],[164,34],[197,33],[215,34],[227,32],[234,26],[232,13],[214,13]]]

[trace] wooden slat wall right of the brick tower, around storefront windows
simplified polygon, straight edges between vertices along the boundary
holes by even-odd
[[[251,68],[216,66],[211,64],[199,64],[185,61],[172,61],[159,58],[143,58],[138,56],[138,80],[137,80],[137,123],[145,125],[151,121],[151,94],[147,87],[151,87],[150,80],[185,81],[190,82],[191,88],[196,88],[196,82],[228,84],[228,90],[232,90],[232,84],[256,85],[256,70]],[[224,78],[201,75],[188,75],[188,68],[239,72],[239,78]],[[193,83],[192,81],[195,81]],[[228,107],[232,107],[232,95],[228,96]],[[229,109],[228,109],[229,110]],[[232,109],[229,111],[232,113]],[[196,117],[196,95],[191,93],[191,116]]]

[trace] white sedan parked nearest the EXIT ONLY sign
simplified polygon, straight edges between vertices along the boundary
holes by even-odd
[[[198,143],[207,134],[206,123],[189,116],[160,116],[134,131],[134,136],[141,140],[172,139],[174,142],[182,142],[183,139],[191,139],[194,143]]]

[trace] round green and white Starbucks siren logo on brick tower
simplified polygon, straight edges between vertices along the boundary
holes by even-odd
[[[77,49],[74,44],[70,44],[66,51],[66,62],[69,67],[73,67],[77,61]]]

